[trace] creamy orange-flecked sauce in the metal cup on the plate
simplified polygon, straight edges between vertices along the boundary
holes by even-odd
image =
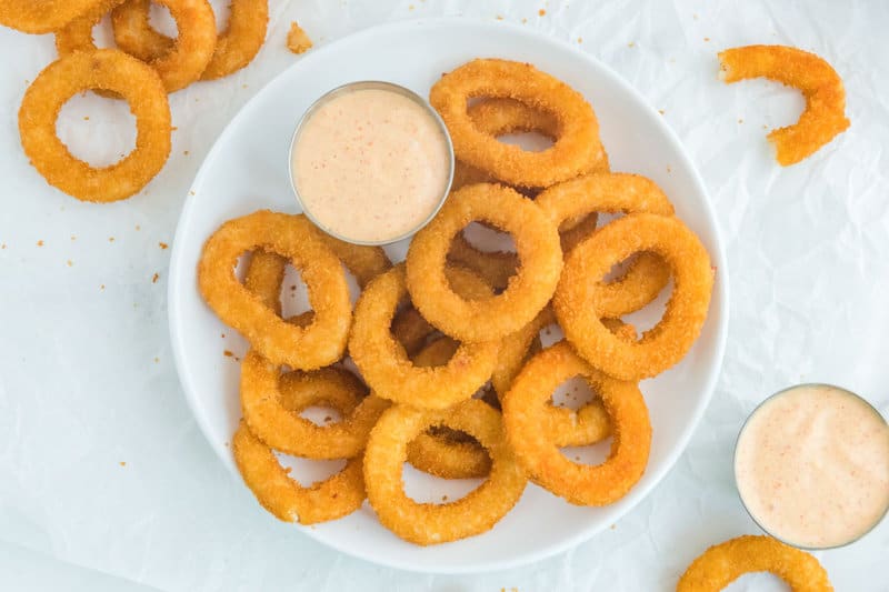
[[[301,126],[291,172],[307,213],[356,242],[391,241],[417,230],[450,180],[439,122],[396,91],[357,89],[332,97]]]

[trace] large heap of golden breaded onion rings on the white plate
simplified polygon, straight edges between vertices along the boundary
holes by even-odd
[[[467,108],[467,98],[479,101]],[[638,382],[677,363],[706,319],[706,249],[653,181],[608,170],[592,108],[572,89],[527,64],[477,60],[446,74],[432,102],[466,151],[466,174],[403,263],[268,211],[223,223],[204,245],[201,293],[250,344],[236,460],[282,520],[340,518],[367,491],[386,528],[427,545],[491,529],[529,480],[573,504],[615,503],[642,478],[651,446]],[[553,147],[503,148],[498,137],[517,131]],[[617,218],[600,224],[600,215]],[[463,234],[473,222],[509,233],[515,252],[473,244]],[[246,252],[241,283],[234,267]],[[313,310],[284,319],[288,263]],[[360,287],[353,308],[347,272]],[[640,337],[621,318],[670,279],[663,319]],[[565,339],[549,344],[550,331]],[[555,401],[575,377],[593,395],[577,410]],[[307,405],[340,419],[317,424],[299,414]],[[611,454],[596,466],[561,450],[608,438]],[[347,464],[304,488],[273,452]],[[482,484],[456,501],[418,503],[404,492],[406,462]]]

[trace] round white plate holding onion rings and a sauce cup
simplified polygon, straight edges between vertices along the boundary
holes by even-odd
[[[204,240],[226,220],[257,209],[298,211],[288,181],[289,142],[296,121],[324,91],[370,79],[397,82],[426,96],[442,72],[477,57],[531,62],[582,92],[599,117],[612,169],[656,180],[672,199],[677,214],[701,238],[719,272],[710,314],[693,350],[677,368],[641,385],[653,425],[651,458],[642,480],[620,502],[578,508],[529,485],[520,503],[492,531],[431,548],[394,536],[367,504],[336,522],[293,526],[374,563],[438,573],[506,569],[539,560],[613,524],[670,470],[707,407],[726,343],[727,268],[703,184],[662,118],[590,56],[521,28],[447,19],[368,29],[312,50],[232,119],[182,209],[170,269],[170,333],[179,377],[207,439],[237,476],[228,442],[240,417],[239,364],[222,351],[240,357],[244,343],[217,320],[198,293],[196,268]],[[402,244],[390,254],[403,257],[403,252]],[[224,340],[221,333],[227,334]],[[430,488],[441,486],[416,471],[406,470],[406,479],[411,493],[426,489],[420,494],[430,495]]]

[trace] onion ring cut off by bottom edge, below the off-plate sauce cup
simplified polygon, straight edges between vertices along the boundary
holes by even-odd
[[[676,592],[717,592],[749,572],[771,572],[793,592],[833,592],[818,560],[799,549],[750,534],[708,549],[689,565]]]

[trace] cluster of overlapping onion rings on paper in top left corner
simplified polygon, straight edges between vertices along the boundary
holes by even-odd
[[[217,33],[208,0],[156,0],[176,20],[170,39],[148,19],[150,0],[7,0],[0,24],[28,33],[54,33],[59,59],[28,89],[19,111],[22,148],[49,184],[91,202],[132,197],[160,172],[170,153],[167,94],[198,80],[246,67],[266,39],[268,0],[236,0],[226,31]],[[111,13],[119,50],[97,49],[92,30]],[[136,116],[136,149],[110,167],[74,158],[56,136],[62,106],[92,90],[124,99]]]

